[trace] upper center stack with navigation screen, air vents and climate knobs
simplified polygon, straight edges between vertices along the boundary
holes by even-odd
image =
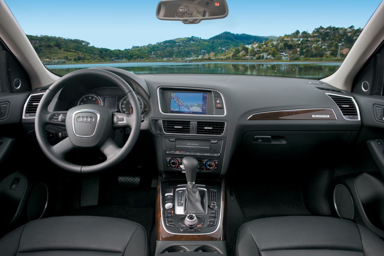
[[[221,93],[159,87],[158,99],[164,118],[150,123],[152,131],[160,135],[157,140],[161,144],[161,150],[157,150],[160,171],[180,172],[182,159],[194,157],[199,161],[198,172],[220,174],[227,129],[227,122],[220,120],[226,115]]]

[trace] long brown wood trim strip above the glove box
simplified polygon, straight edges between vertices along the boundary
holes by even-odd
[[[332,109],[281,110],[255,113],[248,120],[337,120]]]

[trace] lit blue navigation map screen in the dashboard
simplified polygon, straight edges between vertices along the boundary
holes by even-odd
[[[207,114],[207,92],[171,92],[170,113]]]

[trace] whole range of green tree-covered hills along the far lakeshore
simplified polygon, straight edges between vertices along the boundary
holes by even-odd
[[[318,27],[312,33],[296,30],[283,36],[223,32],[209,39],[182,37],[129,49],[108,49],[89,42],[56,36],[27,35],[44,63],[215,60],[342,60],[362,29],[353,26]]]

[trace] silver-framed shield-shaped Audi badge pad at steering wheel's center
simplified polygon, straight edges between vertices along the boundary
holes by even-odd
[[[99,112],[80,110],[73,114],[73,131],[77,137],[92,137],[99,124]]]

